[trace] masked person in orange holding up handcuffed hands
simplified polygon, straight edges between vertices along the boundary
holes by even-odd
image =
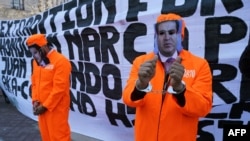
[[[122,98],[136,108],[135,141],[196,141],[212,108],[209,64],[183,49],[184,29],[179,15],[159,15],[154,51],[133,61]]]

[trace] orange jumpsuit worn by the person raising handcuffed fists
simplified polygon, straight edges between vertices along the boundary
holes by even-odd
[[[196,141],[199,117],[206,116],[212,108],[212,75],[206,60],[186,50],[180,52],[185,67],[183,81],[186,103],[179,106],[176,97],[167,93],[149,92],[142,99],[132,101],[140,65],[152,59],[154,53],[136,58],[133,62],[127,84],[123,90],[123,101],[136,107],[135,141]],[[153,90],[162,90],[164,69],[158,60],[155,76],[151,79]]]

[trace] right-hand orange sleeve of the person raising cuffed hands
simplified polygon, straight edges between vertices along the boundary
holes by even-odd
[[[188,116],[206,116],[212,109],[212,74],[207,61],[193,61],[198,64],[196,78],[186,85],[185,105],[182,112]]]

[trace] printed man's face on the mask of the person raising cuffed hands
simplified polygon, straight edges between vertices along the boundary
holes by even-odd
[[[175,21],[167,21],[158,25],[158,48],[162,55],[170,57],[176,51],[177,29]]]

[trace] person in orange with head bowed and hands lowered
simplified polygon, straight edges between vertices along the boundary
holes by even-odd
[[[32,103],[43,141],[70,141],[69,60],[48,45],[44,34],[34,34],[26,44],[33,55]]]

